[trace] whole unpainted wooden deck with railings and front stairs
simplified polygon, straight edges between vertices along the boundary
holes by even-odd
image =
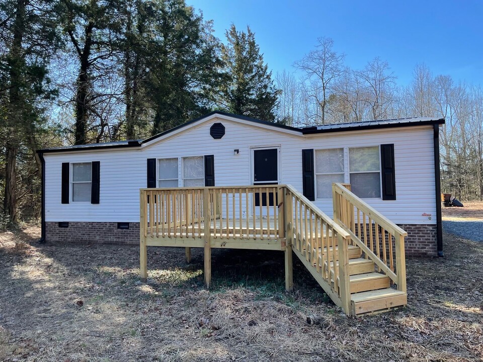
[[[347,314],[379,313],[407,303],[406,232],[334,184],[335,220],[288,185],[140,190],[141,279],[147,246],[279,250],[285,288],[293,289],[292,254]]]

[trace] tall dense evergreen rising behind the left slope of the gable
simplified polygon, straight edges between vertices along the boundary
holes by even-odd
[[[220,44],[211,22],[184,0],[158,4],[154,16],[154,40],[146,58],[152,134],[209,112],[222,76]]]

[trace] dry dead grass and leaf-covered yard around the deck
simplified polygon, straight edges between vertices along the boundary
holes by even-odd
[[[354,318],[299,263],[285,293],[282,253],[215,252],[208,292],[200,250],[187,265],[182,249],[150,248],[142,285],[137,247],[39,245],[38,233],[0,236],[2,361],[483,358],[482,243],[445,235],[446,258],[407,261],[408,308]]]

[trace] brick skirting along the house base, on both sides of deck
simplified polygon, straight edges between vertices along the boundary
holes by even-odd
[[[129,229],[118,229],[115,222],[46,222],[46,239],[52,243],[76,244],[139,244],[139,223],[129,223]],[[407,256],[437,256],[436,225],[401,224],[408,232]]]

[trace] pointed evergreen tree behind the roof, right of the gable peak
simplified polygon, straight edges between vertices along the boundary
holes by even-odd
[[[250,27],[238,32],[232,24],[222,47],[226,80],[220,88],[219,106],[228,112],[269,122],[275,121],[277,97],[272,72]]]

